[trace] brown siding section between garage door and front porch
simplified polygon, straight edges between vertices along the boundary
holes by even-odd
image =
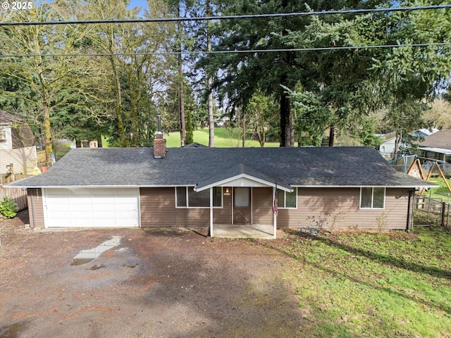
[[[209,227],[209,208],[175,208],[175,189],[140,189],[141,227]]]

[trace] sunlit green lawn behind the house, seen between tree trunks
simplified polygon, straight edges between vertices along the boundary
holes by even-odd
[[[194,142],[209,145],[208,128],[194,130]],[[180,146],[180,132],[171,132],[166,135],[168,148]],[[214,146],[218,148],[242,146],[241,130],[233,128],[215,128]],[[258,141],[247,139],[246,146],[260,146]],[[266,142],[265,146],[279,146],[279,142]]]

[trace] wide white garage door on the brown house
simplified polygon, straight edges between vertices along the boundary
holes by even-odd
[[[138,227],[136,188],[44,189],[46,227]]]

